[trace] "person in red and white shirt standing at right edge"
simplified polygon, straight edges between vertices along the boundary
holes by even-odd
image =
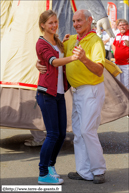
[[[129,24],[125,19],[120,19],[118,28],[120,33],[117,34],[112,48],[115,63],[122,70],[120,81],[129,89]]]

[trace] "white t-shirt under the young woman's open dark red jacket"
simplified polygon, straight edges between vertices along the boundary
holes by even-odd
[[[55,45],[54,48],[59,52],[59,58],[63,58],[64,54],[61,53],[58,46]],[[57,93],[64,94],[64,83],[63,83],[63,66],[58,67],[58,83],[57,83]]]

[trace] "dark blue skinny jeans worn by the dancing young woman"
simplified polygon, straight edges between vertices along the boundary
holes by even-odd
[[[47,131],[40,151],[40,176],[48,174],[48,166],[54,166],[66,136],[66,105],[64,94],[54,97],[37,91],[37,103],[41,109]]]

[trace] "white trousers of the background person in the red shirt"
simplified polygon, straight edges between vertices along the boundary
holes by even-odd
[[[129,89],[129,65],[118,65],[122,73],[117,76],[117,79]]]

